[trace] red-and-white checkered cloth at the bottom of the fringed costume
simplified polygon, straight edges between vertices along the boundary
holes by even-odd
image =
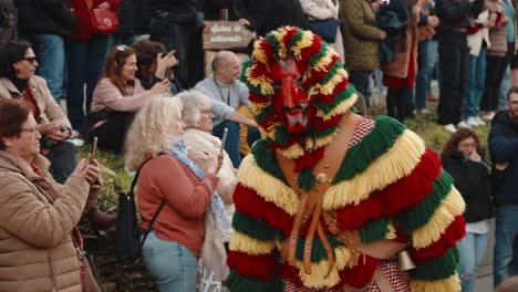
[[[394,292],[408,292],[410,290],[410,273],[407,271],[400,271],[397,268],[397,259],[386,260],[381,262],[381,270],[385,274],[386,280],[391,283],[392,290]],[[293,283],[286,283],[286,292],[340,292],[340,289],[311,289],[311,288],[297,288]],[[360,291],[360,290],[358,290]],[[376,283],[373,283],[363,292],[383,292],[381,291]]]

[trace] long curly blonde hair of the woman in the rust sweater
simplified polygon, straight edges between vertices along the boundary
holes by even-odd
[[[138,111],[124,144],[124,163],[130,171],[138,169],[146,157],[170,149],[178,122],[175,113],[180,112],[180,100],[167,94],[154,96]]]

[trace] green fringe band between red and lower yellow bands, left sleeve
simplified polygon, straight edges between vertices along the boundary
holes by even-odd
[[[234,213],[232,228],[238,232],[262,241],[274,240],[279,232],[270,227],[267,221],[237,211]]]

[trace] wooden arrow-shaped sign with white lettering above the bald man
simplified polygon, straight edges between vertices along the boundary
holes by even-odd
[[[252,39],[252,32],[237,21],[205,21],[204,50],[247,48]]]

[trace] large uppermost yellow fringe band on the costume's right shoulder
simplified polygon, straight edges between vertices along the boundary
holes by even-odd
[[[329,188],[324,195],[323,208],[335,210],[350,204],[359,205],[371,192],[410,175],[425,150],[423,139],[414,132],[405,129],[394,146],[363,173],[356,174],[352,180],[344,180]]]

